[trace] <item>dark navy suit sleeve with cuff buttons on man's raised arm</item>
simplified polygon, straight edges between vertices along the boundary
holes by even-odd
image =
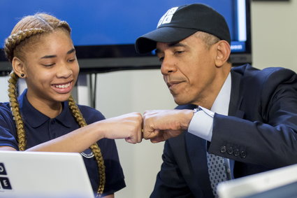
[[[296,74],[280,69],[262,80],[245,88],[244,118],[215,114],[209,152],[273,169],[296,164]]]

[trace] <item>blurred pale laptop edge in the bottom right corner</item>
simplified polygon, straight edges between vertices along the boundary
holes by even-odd
[[[220,198],[297,197],[297,164],[219,183]]]

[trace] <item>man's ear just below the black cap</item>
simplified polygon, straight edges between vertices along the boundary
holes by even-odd
[[[216,43],[217,53],[215,57],[215,65],[217,67],[223,66],[224,63],[229,59],[231,48],[227,41],[219,41]]]

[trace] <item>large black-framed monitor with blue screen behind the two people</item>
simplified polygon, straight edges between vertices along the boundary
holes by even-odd
[[[252,62],[249,0],[1,0],[0,74],[11,70],[3,53],[5,38],[21,17],[37,12],[70,24],[81,72],[159,68],[153,52],[138,55],[134,42],[155,29],[168,8],[189,3],[205,3],[224,15],[231,31],[231,61],[235,66]]]

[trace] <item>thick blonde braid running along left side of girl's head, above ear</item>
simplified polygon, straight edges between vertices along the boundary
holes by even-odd
[[[12,62],[14,56],[13,50],[17,45],[20,44],[20,42],[24,41],[24,39],[29,38],[30,36],[41,34],[43,32],[44,30],[41,28],[31,28],[17,31],[17,33],[8,36],[8,38],[5,40],[4,46],[6,57],[10,60],[10,62]]]

